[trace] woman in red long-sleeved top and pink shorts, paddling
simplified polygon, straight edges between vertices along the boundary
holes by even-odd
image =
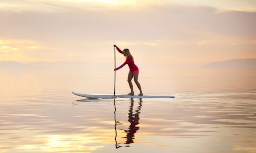
[[[124,67],[126,64],[128,64],[128,66],[130,68],[130,71],[128,73],[128,80],[127,81],[128,81],[129,86],[131,88],[131,92],[128,93],[128,94],[134,95],[133,85],[132,85],[132,82],[131,82],[132,78],[134,77],[134,82],[136,83],[136,85],[137,85],[137,87],[140,91],[140,93],[138,95],[143,95],[142,90],[141,90],[141,86],[138,82],[138,72],[139,72],[138,67],[134,64],[134,60],[133,60],[133,57],[132,57],[130,51],[128,49],[124,49],[124,51],[121,51],[118,48],[118,46],[116,46],[116,45],[114,45],[114,47],[116,47],[117,50],[126,57],[126,61],[120,67],[115,68],[114,70],[116,71],[116,70]]]

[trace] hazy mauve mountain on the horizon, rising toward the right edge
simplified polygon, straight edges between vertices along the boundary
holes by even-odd
[[[256,59],[232,59],[212,62],[202,68],[256,68]]]

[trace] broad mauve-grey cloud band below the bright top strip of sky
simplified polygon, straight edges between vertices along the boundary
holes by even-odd
[[[200,38],[196,32],[255,38],[256,13],[205,7],[156,6],[100,12],[1,15],[1,34],[27,39],[152,41]]]

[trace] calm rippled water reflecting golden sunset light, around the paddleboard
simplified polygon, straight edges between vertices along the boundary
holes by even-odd
[[[129,92],[126,77],[117,73],[116,93]],[[141,70],[144,94],[175,98],[93,100],[72,92],[112,94],[112,71],[0,72],[0,153],[255,153],[255,78]]]

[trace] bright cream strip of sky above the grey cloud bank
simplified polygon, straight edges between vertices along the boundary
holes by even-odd
[[[254,0],[1,0],[0,10],[11,12],[59,12],[101,8],[143,8],[156,5],[201,6],[219,10],[256,11]]]

